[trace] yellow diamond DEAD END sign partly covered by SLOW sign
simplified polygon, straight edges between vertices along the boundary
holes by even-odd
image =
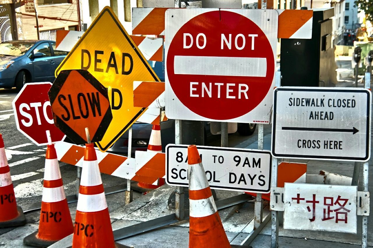
[[[106,151],[144,113],[134,107],[134,81],[160,81],[135,42],[105,7],[56,70],[88,70],[108,89],[113,120],[97,143]]]

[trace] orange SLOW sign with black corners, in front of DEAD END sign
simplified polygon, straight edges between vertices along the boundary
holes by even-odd
[[[113,119],[106,88],[87,70],[61,71],[49,92],[54,125],[75,144],[101,141]]]

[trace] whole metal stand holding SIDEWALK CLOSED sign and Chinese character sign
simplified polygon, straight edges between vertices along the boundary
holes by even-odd
[[[370,75],[368,74],[366,73],[365,88],[370,87]],[[301,91],[307,92],[307,96],[302,97]],[[279,92],[286,93],[280,97],[281,94],[277,95]],[[284,228],[286,229],[349,233],[357,232],[356,215],[362,215],[362,247],[367,247],[367,216],[369,216],[369,164],[367,160],[370,157],[371,130],[370,91],[350,88],[282,87],[276,89],[274,94],[272,132],[272,154],[274,157],[270,202],[272,210],[271,247],[278,247],[277,211],[284,211]],[[306,110],[307,104],[310,107],[308,110]],[[314,106],[311,106],[313,104]],[[284,110],[287,113],[285,115],[283,115]],[[315,113],[317,118],[314,118]],[[326,113],[328,117],[326,117]],[[350,126],[351,118],[353,126],[350,130],[347,126]],[[303,125],[300,127],[298,122],[302,122]],[[283,139],[285,133],[289,139]],[[310,139],[311,142],[308,142]],[[315,141],[313,148],[312,139]],[[361,145],[358,149],[361,151],[354,150],[354,147],[348,145],[355,139],[358,139],[357,144]],[[318,148],[319,141],[321,145]],[[333,145],[330,145],[331,143]],[[342,146],[342,144],[347,145]],[[341,150],[344,154],[338,154]],[[356,166],[352,180],[352,185],[355,186],[285,183],[284,188],[279,188],[277,187],[278,163],[275,156],[279,158],[355,161],[359,164],[360,161],[365,161],[363,163],[363,191],[357,191],[358,168]],[[273,196],[281,193],[284,193],[284,203],[278,204]],[[295,219],[297,219],[296,222]]]

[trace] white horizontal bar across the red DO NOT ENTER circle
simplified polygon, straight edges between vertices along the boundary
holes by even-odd
[[[175,56],[175,74],[265,77],[266,58]]]

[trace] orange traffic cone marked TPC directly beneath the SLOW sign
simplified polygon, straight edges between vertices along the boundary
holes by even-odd
[[[86,144],[84,151],[72,247],[127,247],[114,242],[109,209],[93,144]]]

